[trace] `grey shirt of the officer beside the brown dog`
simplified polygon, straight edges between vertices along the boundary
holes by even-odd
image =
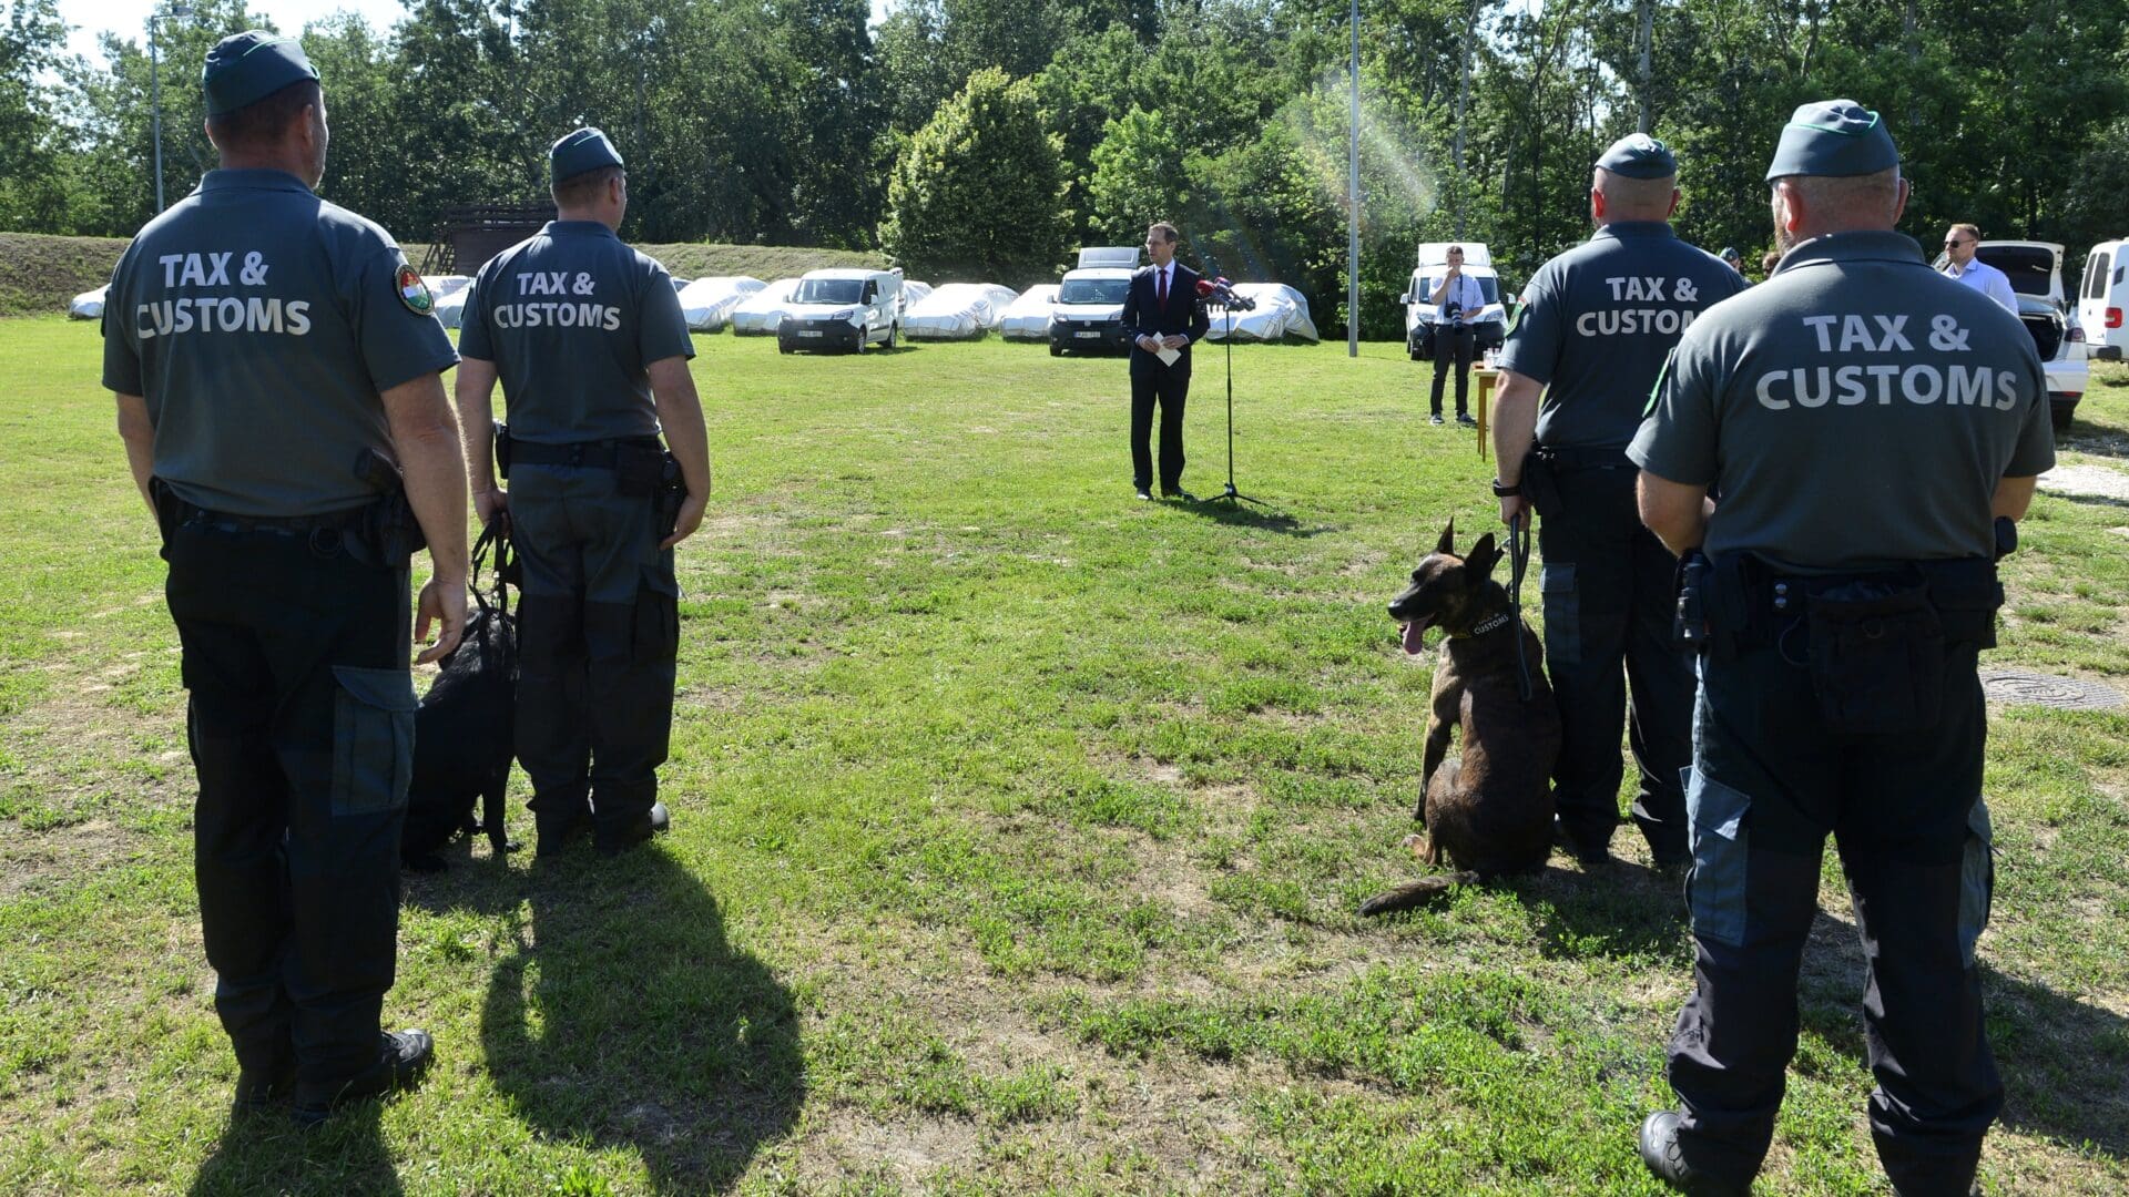
[[[1548,388],[1537,443],[1624,452],[1671,347],[1744,288],[1667,222],[1607,224],[1539,266],[1501,354],[1501,368]]]

